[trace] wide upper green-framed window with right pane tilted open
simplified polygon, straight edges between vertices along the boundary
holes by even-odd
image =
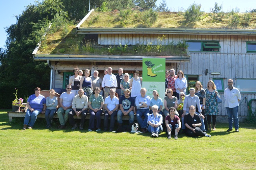
[[[220,43],[218,41],[186,41],[190,52],[219,52]]]

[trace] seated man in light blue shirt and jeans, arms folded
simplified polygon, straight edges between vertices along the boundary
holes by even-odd
[[[141,127],[142,133],[147,132],[147,117],[149,116],[150,97],[146,95],[147,89],[142,88],[140,90],[140,96],[135,99],[135,105],[137,106],[137,120]],[[144,120],[142,116],[144,115]]]

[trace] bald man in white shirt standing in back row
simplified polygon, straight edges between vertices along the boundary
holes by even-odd
[[[106,99],[107,96],[109,96],[109,91],[110,89],[115,89],[117,88],[117,81],[116,81],[116,76],[112,74],[112,68],[109,67],[107,68],[107,73],[102,80],[102,88],[104,90],[104,100]]]

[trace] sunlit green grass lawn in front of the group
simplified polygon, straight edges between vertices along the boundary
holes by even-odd
[[[182,134],[168,140],[165,133],[152,139],[149,133],[48,130],[42,118],[33,130],[24,131],[24,118],[12,121],[0,110],[1,170],[256,169],[255,124],[240,123],[238,133],[217,124],[211,138]]]

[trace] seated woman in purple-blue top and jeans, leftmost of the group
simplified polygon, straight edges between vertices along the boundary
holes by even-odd
[[[27,101],[28,109],[24,119],[23,130],[32,129],[36,122],[37,115],[39,115],[40,113],[42,114],[45,113],[46,100],[45,100],[45,96],[41,95],[40,92],[41,92],[40,88],[35,88],[35,94],[32,94],[28,98],[28,101]]]

